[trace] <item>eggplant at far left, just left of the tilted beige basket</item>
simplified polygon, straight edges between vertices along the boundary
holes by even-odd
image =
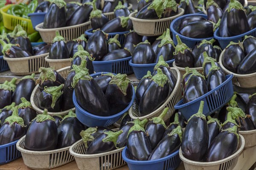
[[[15,91],[12,94],[12,102],[16,105],[21,103],[21,98],[24,97],[26,100],[30,101],[30,96],[35,88],[35,74],[25,76],[19,80]]]

